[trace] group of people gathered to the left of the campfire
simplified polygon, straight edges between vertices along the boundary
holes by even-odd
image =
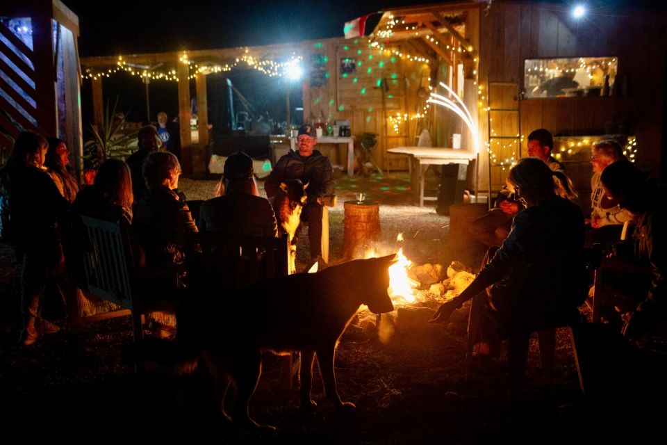
[[[152,125],[138,133],[138,150],[126,161],[107,159],[94,183],[79,189],[68,170],[69,151],[60,140],[47,140],[26,131],[15,140],[8,163],[0,171],[2,238],[11,243],[22,264],[20,343],[29,346],[59,327],[42,318],[47,286],[64,277],[76,291],[81,280],[79,216],[120,222],[136,241],[135,266],[143,270],[147,295],[174,311],[183,297],[186,259],[197,254],[189,234],[197,232],[185,195],[179,191],[181,164],[175,154],[160,151],[159,131]],[[313,150],[313,128],[299,130],[299,152],[279,160],[266,181],[269,197],[282,181],[308,182],[308,204],[303,218],[311,234],[311,254],[317,258],[322,205],[335,193],[331,162]],[[201,204],[199,227],[207,231],[249,236],[279,236],[270,202],[261,197],[254,181],[252,159],[231,154],[217,197]],[[318,219],[319,215],[319,219]],[[140,254],[138,254],[140,252]],[[72,303],[74,298],[68,298]],[[73,311],[70,312],[72,314]]]

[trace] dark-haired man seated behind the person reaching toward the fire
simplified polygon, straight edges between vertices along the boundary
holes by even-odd
[[[528,156],[541,159],[551,170],[560,172],[561,175],[559,176],[564,177],[565,168],[563,164],[551,156],[553,148],[554,138],[550,131],[538,129],[528,135]],[[562,184],[563,188],[571,185],[569,179],[566,177],[561,177],[559,180],[561,183],[564,183]],[[559,195],[563,195],[563,193],[559,193]],[[507,234],[509,234],[514,215],[522,209],[522,204],[513,197],[507,187],[503,187],[495,199],[493,209],[486,213],[486,215],[473,221],[468,227],[468,232],[488,247],[494,245],[500,246],[502,241],[507,238]]]

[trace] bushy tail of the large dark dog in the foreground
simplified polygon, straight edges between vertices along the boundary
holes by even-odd
[[[199,350],[179,341],[142,339],[124,347],[122,360],[129,364],[164,364],[172,366],[176,373],[189,374],[197,369]]]

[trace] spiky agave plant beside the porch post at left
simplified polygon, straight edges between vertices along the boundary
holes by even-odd
[[[117,104],[117,97],[111,110],[109,110],[109,102],[106,103],[99,127],[92,123],[90,124],[94,145],[87,144],[90,146],[90,152],[88,152],[86,157],[89,159],[94,158],[91,159],[93,167],[97,167],[106,159],[124,159],[135,150],[133,147],[130,147],[130,144],[137,140],[138,130],[130,132],[122,131],[125,127],[126,114],[120,113],[119,118],[117,118]]]

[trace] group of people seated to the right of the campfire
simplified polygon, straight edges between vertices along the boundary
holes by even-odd
[[[614,140],[593,145],[592,212],[586,226],[563,165],[551,156],[545,129],[528,136],[528,157],[511,168],[494,208],[470,225],[470,234],[490,250],[475,280],[440,306],[432,321],[442,323],[463,302],[482,296],[484,314],[474,352],[488,355],[500,339],[572,321],[588,293],[584,246],[613,244],[634,223],[640,257],[650,263],[648,295],[625,314],[623,334],[640,339],[667,319],[665,295],[667,190],[623,155]]]

